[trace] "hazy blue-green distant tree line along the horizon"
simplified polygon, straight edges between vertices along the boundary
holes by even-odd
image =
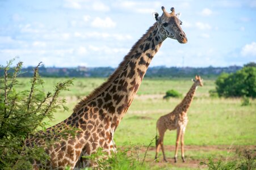
[[[194,77],[196,74],[201,76],[218,76],[221,73],[235,73],[242,69],[241,66],[229,67],[149,67],[145,77]],[[11,71],[11,70],[10,70]],[[20,76],[31,77],[33,67],[22,68],[23,74]],[[44,67],[39,70],[43,77],[108,77],[115,71],[113,67]],[[0,71],[3,75],[3,71]]]

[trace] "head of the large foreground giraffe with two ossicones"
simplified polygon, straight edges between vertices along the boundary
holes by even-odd
[[[162,11],[162,16],[159,16],[157,12],[153,13],[156,22],[160,25],[160,34],[162,37],[178,40],[182,44],[187,43],[186,34],[181,28],[182,22],[179,20],[180,13],[175,14],[174,7],[171,8],[171,13],[167,12],[163,6]]]

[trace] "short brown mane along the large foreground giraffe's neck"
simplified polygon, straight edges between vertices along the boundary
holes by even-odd
[[[79,108],[82,107],[82,105],[86,104],[87,102],[89,102],[90,100],[94,99],[96,96],[100,95],[103,91],[105,91],[110,84],[117,78],[117,76],[120,74],[120,71],[122,71],[125,67],[125,65],[127,64],[127,62],[129,61],[129,57],[132,55],[133,52],[135,52],[135,50],[139,47],[139,45],[144,42],[146,35],[149,34],[149,32],[152,32],[152,30],[154,29],[154,27],[156,27],[157,23],[154,23],[154,25],[152,25],[148,31],[146,31],[146,33],[144,33],[144,35],[142,35],[142,37],[132,46],[131,50],[129,51],[129,53],[124,57],[123,61],[119,64],[119,66],[117,67],[117,69],[114,71],[114,73],[107,79],[106,82],[102,83],[99,87],[95,88],[95,90],[93,92],[91,92],[91,94],[87,95],[85,98],[83,98],[81,101],[79,101],[79,103],[77,105],[75,105],[73,111],[77,112]]]

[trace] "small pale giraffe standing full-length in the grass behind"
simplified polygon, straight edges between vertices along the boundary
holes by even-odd
[[[194,79],[193,79],[194,80]],[[165,131],[167,129],[174,130],[177,129],[177,138],[176,138],[176,146],[175,146],[175,156],[174,156],[174,162],[177,162],[177,155],[178,155],[178,144],[179,140],[181,139],[181,152],[182,152],[182,160],[185,162],[184,159],[184,134],[188,122],[187,117],[187,111],[190,107],[190,104],[194,98],[196,88],[198,86],[203,86],[203,80],[200,78],[200,76],[195,76],[194,83],[192,84],[192,87],[187,92],[187,95],[184,97],[182,102],[175,107],[173,112],[165,114],[164,116],[161,116],[157,120],[157,129],[159,133],[159,138],[157,138],[156,141],[156,156],[155,159],[157,159],[157,154],[159,152],[160,146],[162,148],[163,152],[163,160],[167,162],[165,158],[165,151],[163,150],[163,135],[165,135]]]

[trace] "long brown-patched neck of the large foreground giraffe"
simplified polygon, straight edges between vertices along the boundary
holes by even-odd
[[[88,116],[84,114],[87,111],[91,114],[90,117],[110,122],[111,128],[115,130],[131,105],[154,54],[165,39],[160,35],[159,30],[157,23],[150,27],[133,45],[107,82],[80,101],[71,117],[77,114]]]

